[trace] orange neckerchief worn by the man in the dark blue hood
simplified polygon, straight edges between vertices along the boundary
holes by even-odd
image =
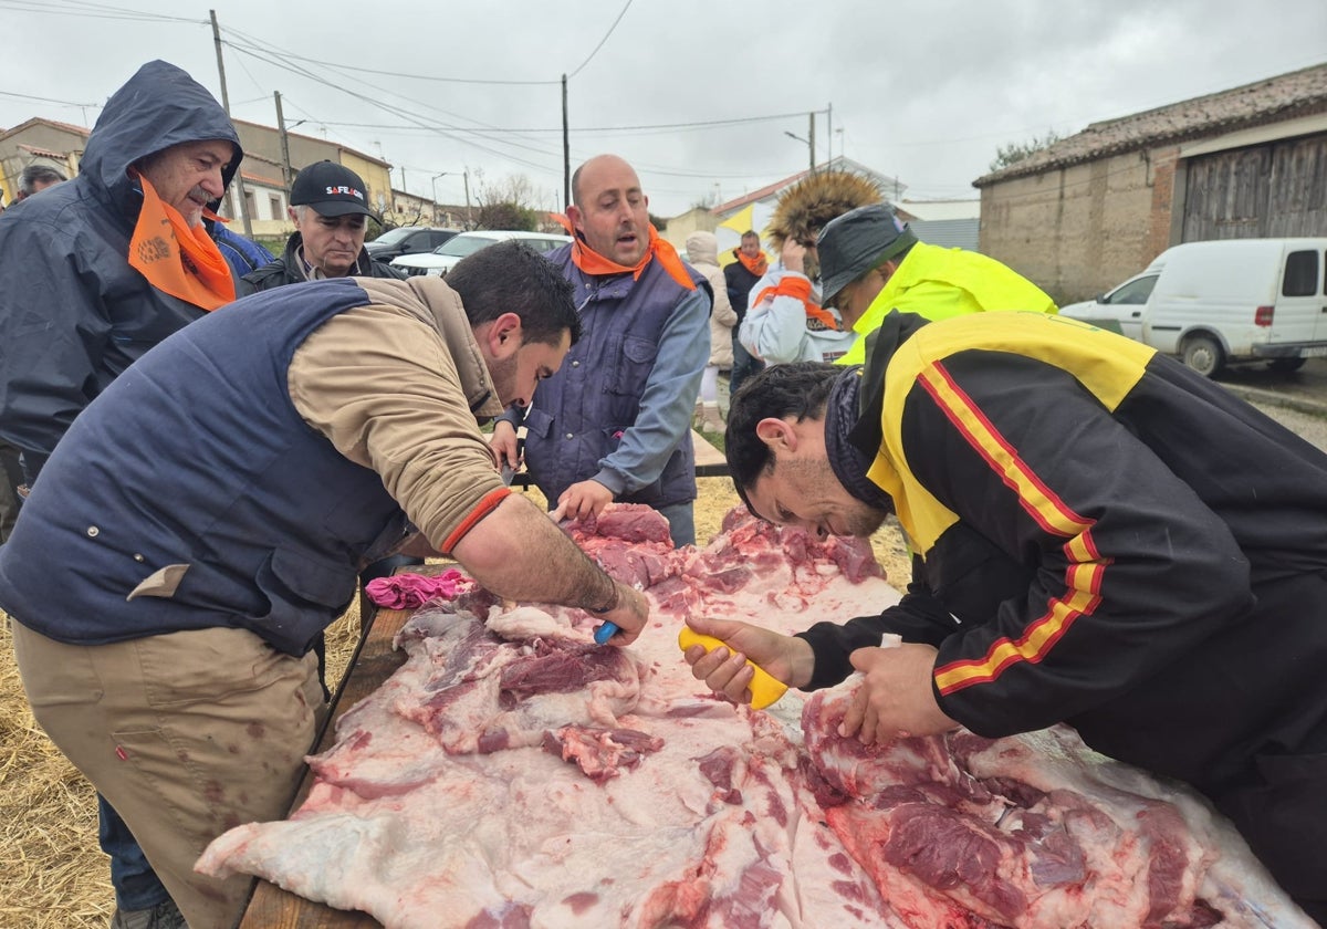
[[[143,207],[129,240],[129,264],[158,291],[202,309],[235,300],[231,267],[207,230],[190,228],[179,210],[165,203],[141,174],[138,183],[143,187]]]

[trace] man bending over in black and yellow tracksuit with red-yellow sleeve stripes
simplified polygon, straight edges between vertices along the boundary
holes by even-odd
[[[1074,320],[896,312],[865,368],[752,378],[727,458],[771,522],[868,535],[894,512],[913,584],[796,637],[699,632],[803,689],[864,672],[867,742],[1067,722],[1205,792],[1327,918],[1327,454]],[[742,695],[750,672],[689,661]]]

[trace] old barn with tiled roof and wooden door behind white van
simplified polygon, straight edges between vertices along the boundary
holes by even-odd
[[[979,251],[1062,305],[1181,242],[1327,235],[1327,64],[1092,123],[974,186]]]

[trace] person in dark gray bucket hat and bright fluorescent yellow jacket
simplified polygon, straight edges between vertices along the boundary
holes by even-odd
[[[892,207],[857,207],[816,239],[821,303],[857,333],[840,365],[865,361],[865,337],[892,309],[928,320],[994,309],[1055,312],[1055,301],[995,259],[918,242]]]

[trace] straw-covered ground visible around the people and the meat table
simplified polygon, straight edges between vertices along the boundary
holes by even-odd
[[[718,534],[738,496],[727,478],[702,478],[695,504],[701,544]],[[537,491],[531,496],[541,502]],[[894,526],[872,544],[900,589],[908,556]],[[0,617],[4,617],[0,613]],[[328,629],[328,682],[345,672],[360,634],[358,607]],[[97,847],[94,794],[36,726],[24,698],[8,617],[0,622],[0,929],[102,929],[115,901]]]

